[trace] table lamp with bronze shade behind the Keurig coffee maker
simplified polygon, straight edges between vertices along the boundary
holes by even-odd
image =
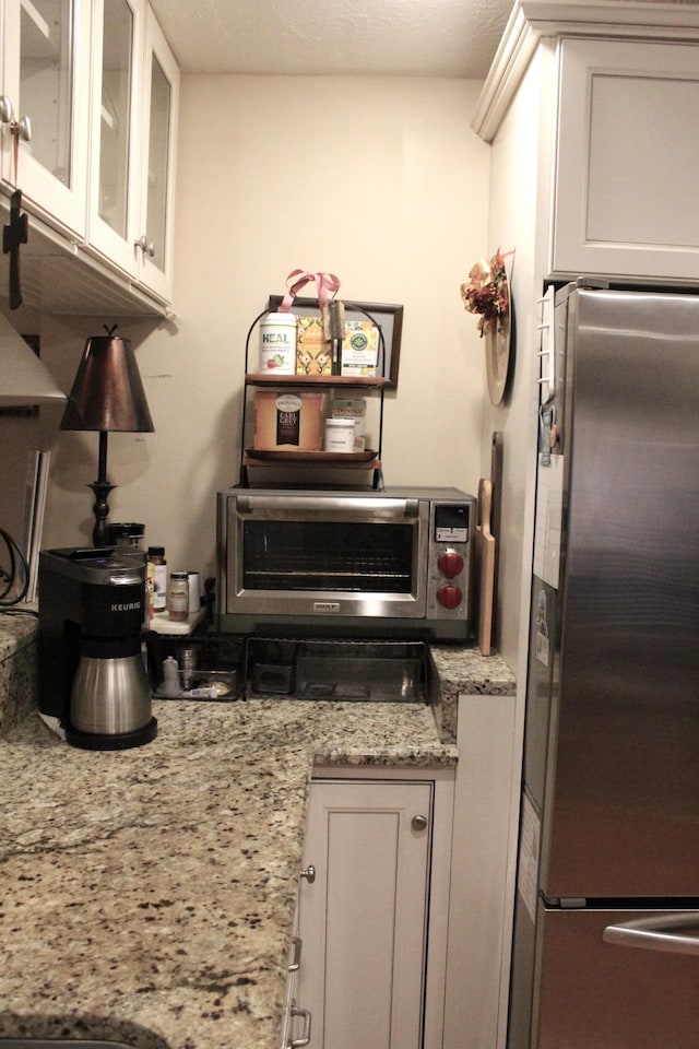
[[[107,434],[150,434],[155,428],[131,343],[115,335],[114,328],[105,330],[106,335],[85,343],[61,422],[61,429],[99,434],[97,480],[88,485],[95,494],[94,546],[107,545],[107,499],[116,487],[107,481]]]

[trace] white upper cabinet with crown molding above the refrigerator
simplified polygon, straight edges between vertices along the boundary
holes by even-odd
[[[542,279],[696,285],[699,8],[624,8],[514,0],[473,127],[499,153],[521,143],[508,200],[529,173]],[[498,208],[501,191],[496,225]]]

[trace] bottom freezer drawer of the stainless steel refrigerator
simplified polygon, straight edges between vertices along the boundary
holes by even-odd
[[[653,924],[656,917],[660,912],[544,911],[537,1049],[696,1049],[699,957],[605,941],[609,927],[641,919]],[[668,924],[674,922],[671,916]],[[680,940],[697,936],[699,911],[694,929],[688,921],[685,931]]]

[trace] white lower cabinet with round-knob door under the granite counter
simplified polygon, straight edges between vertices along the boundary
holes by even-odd
[[[310,1049],[437,1049],[453,777],[332,771],[311,783],[299,891]]]

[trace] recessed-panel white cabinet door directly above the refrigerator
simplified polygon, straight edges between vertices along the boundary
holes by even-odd
[[[699,280],[699,47],[562,39],[552,270]]]

